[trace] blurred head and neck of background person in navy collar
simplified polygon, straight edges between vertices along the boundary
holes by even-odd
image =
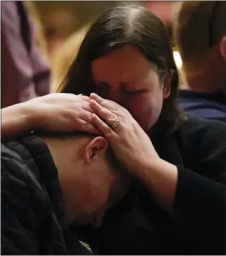
[[[223,1],[180,2],[172,15],[174,40],[182,56],[187,81],[212,87],[225,86],[226,3]],[[200,81],[198,81],[200,83]],[[191,85],[193,86],[193,85]],[[210,87],[211,85],[209,85]]]

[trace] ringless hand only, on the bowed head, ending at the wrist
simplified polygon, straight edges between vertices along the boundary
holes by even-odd
[[[54,132],[84,131],[98,133],[92,124],[90,97],[69,93],[51,93],[26,102],[33,128]]]

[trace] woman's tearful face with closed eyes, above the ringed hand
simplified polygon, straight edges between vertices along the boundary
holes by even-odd
[[[170,94],[154,66],[136,47],[125,46],[93,60],[95,92],[121,104],[145,131],[152,128],[162,111],[162,101]]]

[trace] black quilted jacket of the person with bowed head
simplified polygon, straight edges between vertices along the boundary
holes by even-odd
[[[64,222],[54,161],[41,138],[2,144],[2,254],[90,254]]]

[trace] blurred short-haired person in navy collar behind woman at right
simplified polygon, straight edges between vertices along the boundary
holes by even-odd
[[[176,3],[173,35],[186,84],[178,103],[199,118],[226,122],[226,2]]]

